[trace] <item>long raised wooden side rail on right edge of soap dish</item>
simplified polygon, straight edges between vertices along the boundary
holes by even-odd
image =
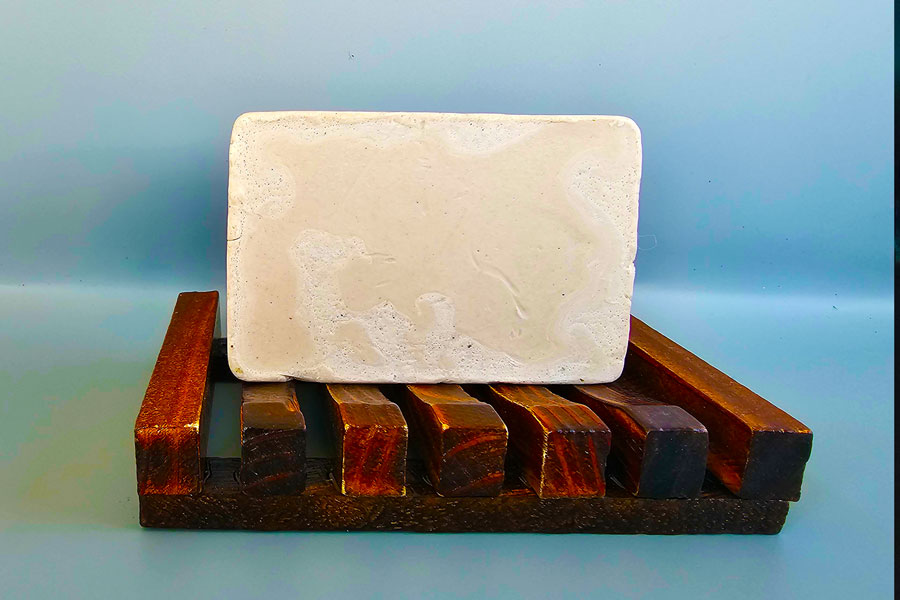
[[[803,423],[635,317],[625,374],[706,426],[708,468],[736,495],[799,499],[812,450]]]

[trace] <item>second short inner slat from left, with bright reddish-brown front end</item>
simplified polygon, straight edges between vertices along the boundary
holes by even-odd
[[[335,477],[348,496],[406,493],[409,432],[400,408],[374,385],[326,386],[334,416]]]

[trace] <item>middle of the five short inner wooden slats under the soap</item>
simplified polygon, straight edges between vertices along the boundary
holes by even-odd
[[[398,400],[421,442],[441,496],[496,496],[503,485],[507,431],[497,411],[458,385],[410,385]]]

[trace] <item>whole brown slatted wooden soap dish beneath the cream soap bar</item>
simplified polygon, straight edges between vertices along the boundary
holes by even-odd
[[[608,385],[323,386],[335,460],[306,457],[292,384],[244,384],[242,456],[208,457],[213,383],[236,381],[217,312],[180,294],[150,378],[144,527],[772,534],[800,497],[810,430],[633,317]]]

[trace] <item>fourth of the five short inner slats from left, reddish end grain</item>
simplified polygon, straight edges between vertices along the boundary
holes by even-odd
[[[604,494],[609,428],[581,404],[533,385],[475,386],[509,429],[509,452],[541,498]]]

